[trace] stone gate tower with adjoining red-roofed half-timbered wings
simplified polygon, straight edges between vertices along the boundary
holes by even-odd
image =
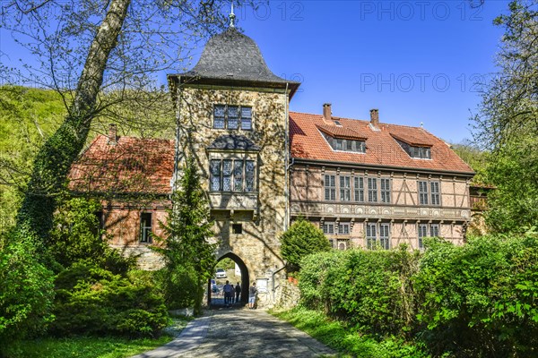
[[[114,192],[102,213],[111,244],[158,268],[151,234],[161,234],[169,195],[193,156],[217,259],[236,261],[243,286],[256,280],[265,303],[282,278],[279,237],[299,216],[335,249],[421,249],[423,237],[437,235],[464,242],[473,171],[445,142],[382,123],[377,110],[369,121],[335,117],[330,105],[322,115],[290,112],[298,88],[231,26],[207,42],[191,71],[169,75],[176,138],[118,137],[112,126],[74,165],[72,190]]]

